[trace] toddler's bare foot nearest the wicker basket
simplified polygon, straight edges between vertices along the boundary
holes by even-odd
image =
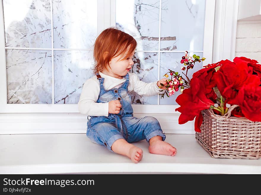
[[[162,140],[155,140],[150,142],[149,152],[153,154],[163,154],[167,156],[175,156],[177,153],[176,148]]]

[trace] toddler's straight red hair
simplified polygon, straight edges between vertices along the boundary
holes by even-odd
[[[112,58],[120,56],[127,52],[127,56],[131,55],[136,49],[137,42],[129,34],[116,28],[107,28],[99,34],[93,49],[93,57],[95,60],[94,73],[107,69],[107,64]]]

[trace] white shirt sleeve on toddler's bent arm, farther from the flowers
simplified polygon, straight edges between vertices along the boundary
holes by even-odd
[[[108,116],[109,102],[97,103],[100,93],[100,85],[92,78],[88,79],[82,88],[82,93],[78,102],[80,113],[89,116]]]

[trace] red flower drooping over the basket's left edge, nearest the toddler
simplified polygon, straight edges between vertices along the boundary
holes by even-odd
[[[179,116],[179,124],[192,121],[196,117],[197,123],[195,123],[195,131],[200,132],[200,125],[203,120],[201,110],[208,109],[214,104],[206,97],[204,82],[193,77],[190,82],[190,88],[185,89],[183,93],[177,97],[176,102],[180,107],[175,111],[181,112]]]

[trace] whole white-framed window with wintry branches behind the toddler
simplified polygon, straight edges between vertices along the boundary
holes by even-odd
[[[137,40],[131,72],[144,82],[159,80],[168,68],[180,72],[179,61],[185,50],[207,58],[205,64],[211,63],[212,52],[206,56],[204,51],[208,48],[212,51],[213,34],[206,36],[206,32],[214,22],[213,2],[3,0],[2,3],[0,14],[4,23],[0,30],[5,48],[1,56],[6,61],[1,63],[4,84],[0,89],[6,93],[0,97],[1,112],[78,112],[83,83],[93,76],[90,68],[94,40],[109,26],[116,26]],[[211,17],[206,16],[207,9],[213,11]],[[190,76],[202,64],[199,66],[190,71]],[[139,113],[168,113],[177,107],[174,105],[177,95],[160,99],[133,93],[132,103],[137,104],[133,108]]]

